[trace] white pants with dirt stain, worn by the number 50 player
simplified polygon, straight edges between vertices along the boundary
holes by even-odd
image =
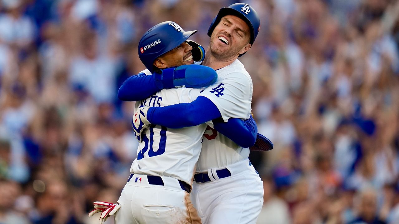
[[[149,183],[153,176],[132,175],[119,197],[115,224],[200,224],[190,195],[179,181],[161,178],[163,185],[154,185]]]

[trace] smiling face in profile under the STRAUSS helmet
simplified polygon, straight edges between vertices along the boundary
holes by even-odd
[[[194,63],[191,53],[192,49],[192,46],[183,42],[179,46],[155,59],[154,66],[160,69],[166,69],[180,65],[191,65]]]

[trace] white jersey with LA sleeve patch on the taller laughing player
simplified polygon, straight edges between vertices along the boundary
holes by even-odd
[[[207,87],[200,96],[207,97],[217,106],[224,121],[229,118],[249,118],[253,84],[244,65],[236,59],[216,72],[216,83]],[[212,127],[207,127],[197,171],[225,167],[243,161],[248,156],[249,148],[243,148]]]

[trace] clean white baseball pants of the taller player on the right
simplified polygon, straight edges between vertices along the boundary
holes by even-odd
[[[231,176],[220,178],[209,169],[211,181],[193,183],[190,194],[203,224],[255,224],[263,205],[263,182],[249,159],[229,165]]]

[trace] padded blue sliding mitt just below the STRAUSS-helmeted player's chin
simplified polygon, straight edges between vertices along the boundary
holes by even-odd
[[[216,71],[204,65],[181,65],[153,74],[159,89],[202,88],[210,86],[217,80]]]

